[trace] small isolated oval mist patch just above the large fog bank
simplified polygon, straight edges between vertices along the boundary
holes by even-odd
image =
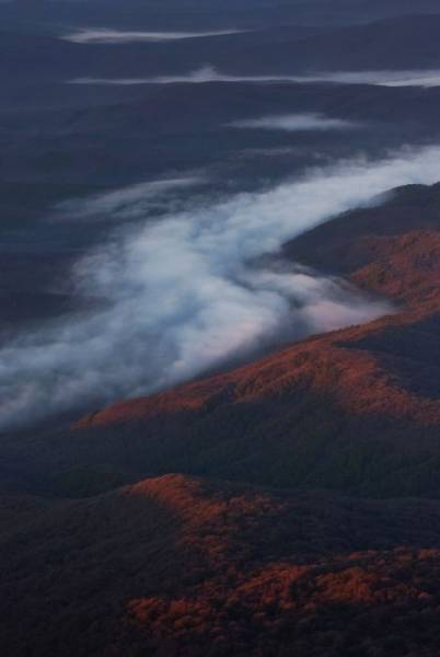
[[[280,116],[262,116],[235,120],[229,124],[233,128],[283,130],[303,132],[306,130],[351,130],[357,124],[340,118],[329,118],[323,114],[283,114]]]

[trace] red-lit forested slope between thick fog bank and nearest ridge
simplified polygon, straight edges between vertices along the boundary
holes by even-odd
[[[70,433],[4,438],[8,471],[49,488],[60,473],[104,468],[438,496],[439,205],[439,185],[407,187],[286,246],[296,261],[336,262],[356,285],[391,297],[390,315],[117,404]]]

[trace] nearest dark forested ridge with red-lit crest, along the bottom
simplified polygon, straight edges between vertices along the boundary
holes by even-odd
[[[0,534],[8,657],[437,655],[437,502],[169,475],[21,514]]]

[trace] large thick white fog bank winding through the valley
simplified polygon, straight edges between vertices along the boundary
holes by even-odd
[[[392,187],[433,183],[439,171],[440,148],[405,150],[155,221],[132,188],[84,201],[83,212],[91,204],[93,215],[138,221],[77,264],[80,292],[104,303],[0,350],[2,428],[161,390],[281,338],[389,312],[337,279],[263,256]]]

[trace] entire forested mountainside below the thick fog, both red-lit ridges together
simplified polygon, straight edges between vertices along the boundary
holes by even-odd
[[[8,657],[439,655],[440,186],[285,253],[392,312],[3,438]]]

